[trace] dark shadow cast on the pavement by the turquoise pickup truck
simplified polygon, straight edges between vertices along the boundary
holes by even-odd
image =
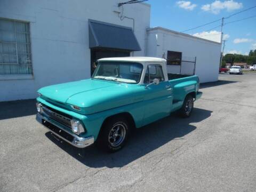
[[[196,129],[190,123],[201,122],[211,116],[212,111],[194,108],[189,118],[180,118],[173,114],[150,125],[144,126],[132,134],[126,146],[114,154],[103,153],[95,146],[84,149],[73,147],[55,139],[51,132],[45,133],[55,145],[89,167],[123,167],[151,151],[165,145],[173,139],[182,139]]]

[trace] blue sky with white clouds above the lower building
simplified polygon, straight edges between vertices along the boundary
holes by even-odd
[[[146,3],[151,5],[151,27],[160,26],[180,32],[256,6],[256,0],[149,0]],[[236,21],[248,17],[252,18]],[[224,23],[225,54],[247,55],[256,49],[256,7],[225,19]],[[221,20],[183,33],[220,42],[220,25]]]

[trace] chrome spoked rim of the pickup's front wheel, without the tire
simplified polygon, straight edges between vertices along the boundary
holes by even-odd
[[[121,145],[121,143],[125,139],[126,129],[122,124],[116,124],[112,127],[108,135],[108,142],[111,146],[117,147]]]

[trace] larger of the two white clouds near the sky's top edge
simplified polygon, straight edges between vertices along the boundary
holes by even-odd
[[[243,3],[238,3],[233,0],[228,1],[214,1],[211,4],[202,5],[201,9],[203,11],[209,11],[214,14],[219,14],[221,10],[226,9],[227,11],[233,11],[237,9],[241,9],[243,7]]]

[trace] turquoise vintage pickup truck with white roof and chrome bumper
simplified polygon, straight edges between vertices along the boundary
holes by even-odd
[[[90,79],[39,89],[36,119],[75,147],[115,152],[132,129],[176,110],[189,117],[198,89],[196,75],[167,74],[165,59],[99,59]]]

